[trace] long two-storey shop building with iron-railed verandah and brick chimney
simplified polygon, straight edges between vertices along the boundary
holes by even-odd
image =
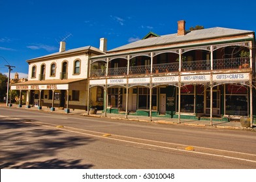
[[[142,40],[91,57],[89,89],[104,90],[104,112],[253,121],[255,34],[215,27]]]

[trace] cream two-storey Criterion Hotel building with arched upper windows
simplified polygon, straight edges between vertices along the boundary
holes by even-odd
[[[102,54],[91,46],[66,51],[61,42],[59,53],[27,60],[28,81],[12,85],[11,90],[27,90],[27,107],[87,109],[89,57]]]

